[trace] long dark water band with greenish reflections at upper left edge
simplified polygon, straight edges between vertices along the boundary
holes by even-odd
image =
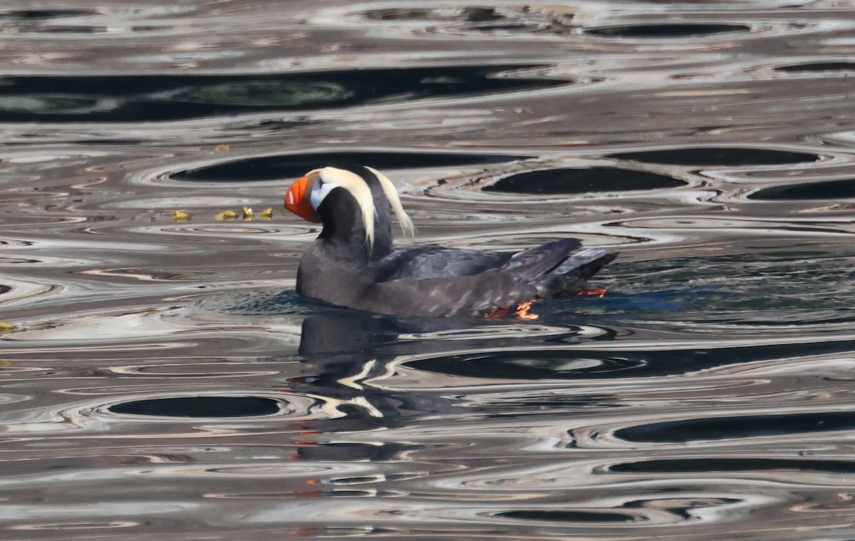
[[[9,76],[0,122],[145,122],[482,95],[569,84],[503,72],[541,64],[374,68],[311,74]]]

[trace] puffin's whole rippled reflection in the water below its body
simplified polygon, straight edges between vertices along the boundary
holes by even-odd
[[[472,366],[467,367],[461,356],[518,351],[522,360],[536,354],[535,350],[557,354],[562,346],[593,337],[591,329],[569,324],[510,321],[397,318],[337,308],[305,318],[299,346],[304,376],[290,378],[289,383],[292,390],[315,396],[327,415],[300,423],[293,460],[315,465],[368,462],[371,466],[369,473],[355,477],[321,474],[306,479],[301,496],[376,497],[405,492],[410,486],[406,479],[420,475],[416,472],[426,467],[416,458],[419,451],[456,447],[463,444],[460,438],[469,437],[446,432],[449,425],[490,419],[489,411],[483,409],[490,409],[489,404],[479,406],[476,395],[495,392],[495,383],[504,378],[531,377],[531,367],[525,363],[501,360],[495,374],[483,373],[483,367],[477,366],[479,373],[468,374],[465,371]],[[610,330],[593,334],[605,340],[614,337]],[[402,374],[402,368],[408,373]],[[549,377],[542,369],[534,372],[540,373],[536,378]],[[449,378],[458,378],[466,388],[447,387]],[[469,384],[464,383],[469,378],[473,378]],[[485,378],[493,378],[492,383],[484,384]],[[614,397],[586,394],[561,400],[602,404]],[[410,430],[413,427],[416,432]],[[403,463],[406,466],[394,466]]]

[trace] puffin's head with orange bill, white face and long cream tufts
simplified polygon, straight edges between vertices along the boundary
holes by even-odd
[[[350,169],[350,170],[349,170]],[[351,166],[347,169],[338,167],[325,167],[323,169],[313,169],[306,175],[298,178],[285,195],[285,208],[292,211],[298,217],[309,222],[324,223],[324,226],[331,225],[331,220],[334,216],[328,216],[327,219],[321,217],[321,205],[333,192],[336,195],[333,199],[341,197],[349,197],[352,199],[354,212],[361,214],[361,223],[365,232],[365,242],[369,248],[374,245],[374,219],[377,217],[376,206],[374,205],[374,195],[372,194],[369,182],[377,182],[381,188],[381,192],[385,195],[386,200],[392,207],[395,217],[398,218],[398,223],[401,224],[401,229],[404,230],[404,235],[413,235],[413,223],[407,213],[404,212],[404,207],[401,205],[401,200],[398,198],[398,192],[386,175],[380,173],[376,169],[363,166]],[[346,192],[346,195],[345,195]],[[332,202],[332,201],[331,201]],[[325,207],[331,205],[325,205]],[[340,205],[335,205],[335,209],[340,213]],[[351,220],[356,218],[347,217]]]

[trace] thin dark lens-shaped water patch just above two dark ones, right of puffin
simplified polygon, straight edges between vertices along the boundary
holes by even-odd
[[[661,151],[621,152],[609,158],[640,163],[668,165],[784,165],[811,163],[819,157],[806,152],[774,151],[758,148],[697,147],[675,148]]]

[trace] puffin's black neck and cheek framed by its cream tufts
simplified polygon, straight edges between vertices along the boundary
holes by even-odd
[[[351,260],[357,265],[368,265],[386,257],[392,253],[391,209],[388,201],[378,201],[376,197],[374,205],[377,210],[377,216],[374,217],[374,246],[369,247],[365,240],[363,213],[356,199],[345,188],[333,189],[317,209],[323,223],[318,241],[330,247],[337,257]]]

